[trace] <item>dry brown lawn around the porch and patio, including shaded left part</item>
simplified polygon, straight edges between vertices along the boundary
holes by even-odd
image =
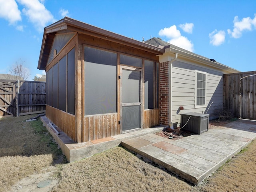
[[[60,156],[57,145],[39,120],[22,122],[28,119],[25,116],[8,119],[0,120],[0,191],[10,190],[16,181],[42,172],[54,165],[54,159]],[[255,154],[256,141],[203,184],[193,186],[124,148],[116,147],[78,162],[54,165],[53,176],[59,182],[52,191],[252,192],[256,191]]]

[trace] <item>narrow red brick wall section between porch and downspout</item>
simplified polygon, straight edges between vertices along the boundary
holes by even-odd
[[[160,124],[169,124],[169,62],[159,64],[159,114]]]

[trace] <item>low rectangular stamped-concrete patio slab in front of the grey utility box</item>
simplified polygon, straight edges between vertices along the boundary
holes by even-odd
[[[121,144],[180,177],[200,184],[254,140],[255,130],[256,121],[237,120],[180,140],[163,140],[161,136],[150,134],[133,138],[132,142],[124,140]],[[148,141],[143,147],[138,146],[141,139]]]

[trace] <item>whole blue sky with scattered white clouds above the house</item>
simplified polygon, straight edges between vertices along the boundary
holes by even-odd
[[[0,0],[0,73],[32,80],[45,26],[68,16],[142,41],[150,36],[240,70],[256,70],[256,0]]]

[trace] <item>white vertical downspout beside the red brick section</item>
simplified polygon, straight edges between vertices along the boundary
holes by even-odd
[[[169,67],[169,126],[170,128],[173,128],[172,126],[172,63],[178,58],[178,53],[175,53],[175,56],[172,60],[170,60],[170,67]]]

